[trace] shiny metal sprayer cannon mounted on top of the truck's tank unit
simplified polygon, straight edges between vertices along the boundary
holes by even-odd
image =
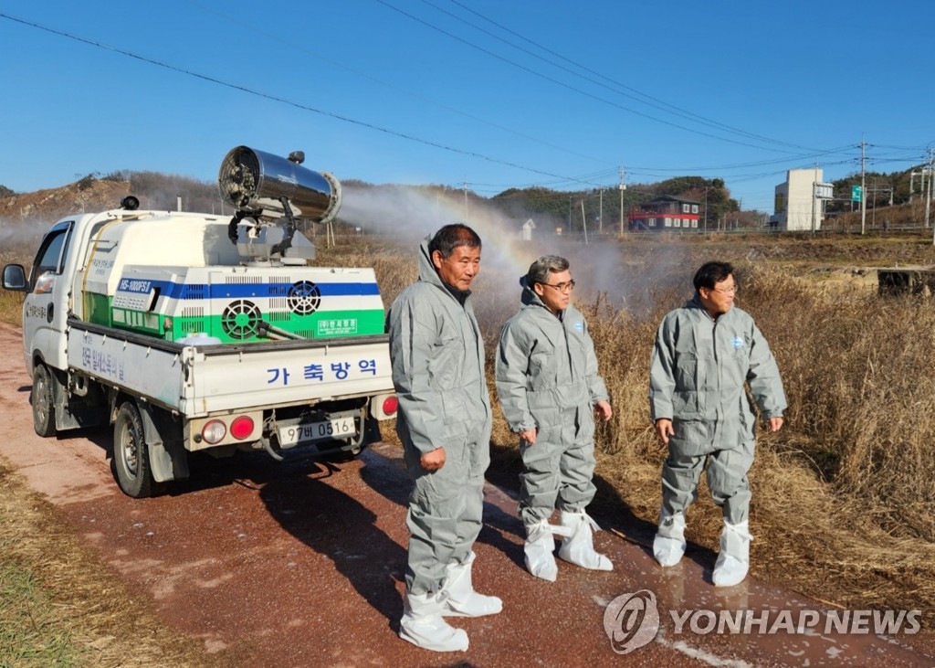
[[[228,237],[246,265],[304,265],[315,246],[296,220],[331,222],[341,205],[341,186],[328,172],[301,167],[305,153],[288,158],[238,146],[224,157],[218,184],[234,207]],[[244,222],[252,225],[241,225]]]

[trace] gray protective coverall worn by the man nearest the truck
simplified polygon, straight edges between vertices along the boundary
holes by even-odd
[[[439,591],[445,566],[468,559],[482,526],[492,416],[483,340],[470,298],[462,296],[464,304],[442,283],[425,240],[419,281],[400,293],[387,317],[396,433],[415,482],[406,571],[414,594]],[[419,458],[439,447],[445,465],[425,471]]]

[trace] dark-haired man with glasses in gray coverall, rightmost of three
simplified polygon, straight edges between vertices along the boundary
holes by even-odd
[[[662,510],[655,559],[674,566],[685,551],[685,511],[698,498],[707,461],[708,486],[724,512],[715,586],[740,583],[750,565],[747,472],[754,461],[755,413],[770,431],[783,427],[785,394],[776,360],[754,320],[734,306],[737,283],[726,262],[695,274],[695,297],[669,312],[656,334],[650,369],[650,413],[669,446],[662,468]]]

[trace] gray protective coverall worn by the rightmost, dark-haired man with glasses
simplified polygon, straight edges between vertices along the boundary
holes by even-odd
[[[683,513],[698,496],[708,462],[708,486],[731,524],[747,519],[754,460],[755,413],[780,417],[785,393],[776,360],[749,313],[736,306],[714,320],[698,295],[663,319],[650,369],[650,413],[668,418],[669,458],[662,471],[662,507]]]

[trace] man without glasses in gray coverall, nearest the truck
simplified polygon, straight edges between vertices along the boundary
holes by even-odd
[[[492,426],[483,340],[469,299],[480,269],[481,238],[467,225],[445,225],[424,240],[419,280],[387,317],[396,433],[415,482],[399,636],[435,651],[468,649],[468,634],[443,617],[495,615],[503,606],[471,584]]]

